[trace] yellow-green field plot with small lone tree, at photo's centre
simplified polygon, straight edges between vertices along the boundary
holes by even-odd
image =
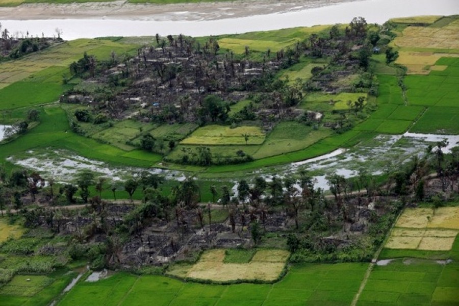
[[[239,126],[231,129],[230,126],[208,125],[194,131],[181,144],[246,144],[244,135],[248,135],[247,144],[262,144],[265,140],[265,134],[258,126]]]

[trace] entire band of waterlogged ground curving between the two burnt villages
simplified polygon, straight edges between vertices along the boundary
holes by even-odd
[[[459,145],[459,135],[425,135],[405,133],[403,135],[379,135],[373,139],[364,141],[352,149],[337,149],[327,155],[291,163],[282,166],[273,166],[238,173],[237,177],[221,177],[216,180],[228,182],[231,185],[242,177],[250,180],[251,177],[261,175],[268,181],[273,175],[284,177],[287,173],[308,170],[316,179],[316,188],[328,189],[325,176],[329,173],[338,173],[345,177],[358,175],[359,170],[369,174],[378,175],[394,170],[398,165],[406,163],[413,156],[423,156],[429,145],[435,146],[436,142],[446,139],[448,151],[451,147]],[[112,181],[124,181],[127,177],[144,171],[144,168],[115,167],[110,164],[90,160],[73,154],[68,150],[43,149],[27,151],[20,156],[12,156],[8,161],[36,170],[44,177],[54,177],[57,182],[71,182],[78,171],[87,169],[105,176]],[[183,181],[185,174],[175,170],[159,168],[146,169],[151,173],[164,175],[167,180]],[[199,175],[197,175],[199,176]],[[236,194],[237,185],[233,187]]]

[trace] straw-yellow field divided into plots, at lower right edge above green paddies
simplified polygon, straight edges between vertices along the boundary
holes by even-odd
[[[385,245],[389,249],[450,250],[459,233],[459,207],[405,209]]]

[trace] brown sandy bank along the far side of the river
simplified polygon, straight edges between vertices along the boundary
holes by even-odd
[[[0,7],[0,19],[126,19],[193,21],[286,13],[362,0],[241,0],[194,4],[129,4],[126,1],[22,4]]]

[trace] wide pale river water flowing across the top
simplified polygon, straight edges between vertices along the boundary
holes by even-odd
[[[176,12],[180,16],[187,12]],[[364,0],[311,8],[294,12],[254,15],[217,20],[127,20],[107,19],[31,19],[2,20],[3,28],[11,34],[29,33],[33,36],[53,36],[62,30],[64,39],[101,36],[154,36],[185,34],[191,36],[221,35],[268,31],[316,24],[348,23],[355,16],[363,16],[369,23],[384,23],[390,18],[416,15],[459,14],[459,0]],[[163,18],[164,19],[164,18]]]

